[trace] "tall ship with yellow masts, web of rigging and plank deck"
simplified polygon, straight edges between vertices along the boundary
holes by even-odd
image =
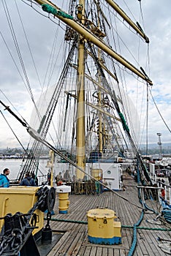
[[[148,48],[142,26],[113,0],[13,4],[22,31],[18,37],[26,40],[35,68],[33,80],[12,25],[12,4],[2,1],[21,71],[8,45],[7,50],[34,108],[28,121],[6,95],[1,97],[5,113],[28,132],[29,143],[23,147],[23,164],[15,181],[0,188],[4,207],[0,255],[170,254],[170,185],[157,180],[153,163],[147,164],[140,154],[139,116],[144,104],[140,100],[146,90],[148,102],[153,86],[143,50],[131,53],[140,45]],[[42,21],[30,25],[29,12]],[[45,19],[53,32],[44,45],[41,33],[49,34]],[[39,26],[39,39],[32,46],[26,26]],[[46,64],[43,82],[33,55],[41,45],[38,59]],[[140,54],[142,59],[137,60]],[[137,97],[128,93],[133,83]],[[40,165],[43,154],[48,157],[45,167]],[[18,186],[26,173],[37,187]],[[32,204],[24,208],[30,196]],[[20,201],[17,208],[11,200]],[[39,236],[46,234],[47,240],[40,242]]]

